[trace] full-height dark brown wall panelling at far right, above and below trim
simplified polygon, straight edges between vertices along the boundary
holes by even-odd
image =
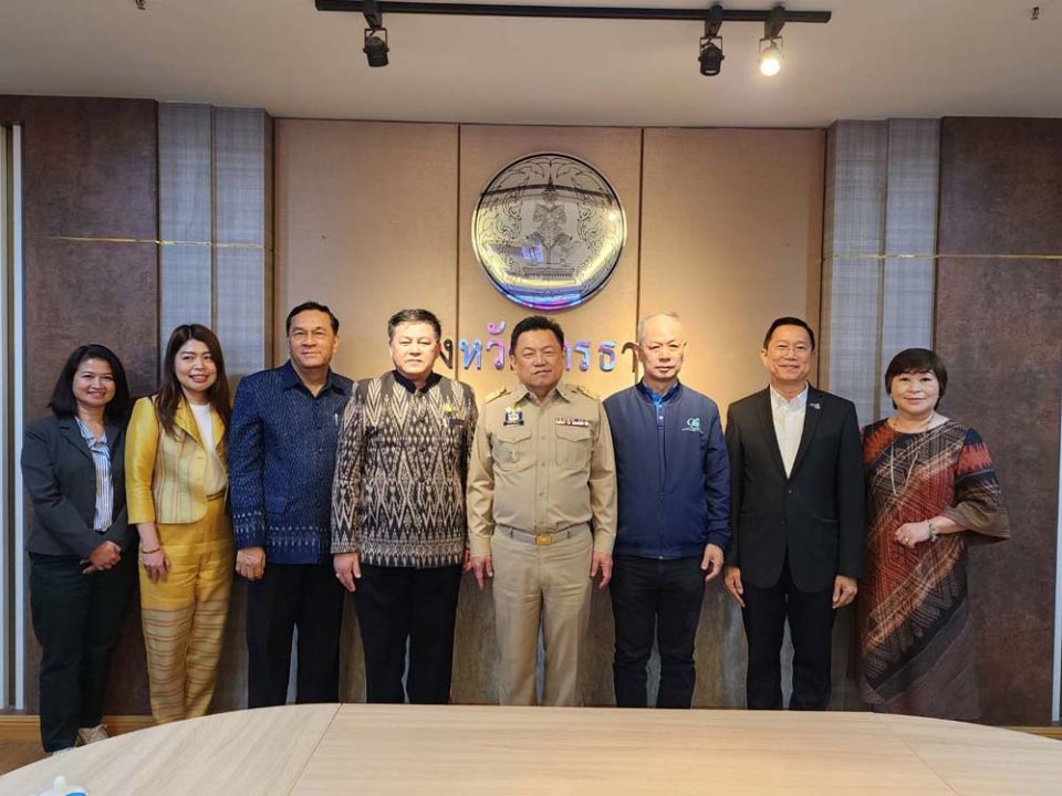
[[[1010,542],[976,549],[983,720],[1051,714],[1062,410],[1062,119],[941,123],[936,347],[945,413],[981,431]]]

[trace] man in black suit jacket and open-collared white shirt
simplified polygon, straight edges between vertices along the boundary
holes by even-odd
[[[855,407],[808,384],[815,336],[774,321],[760,359],[770,386],[730,406],[732,535],[727,589],[749,642],[748,706],[781,710],[785,620],[793,641],[790,710],[830,701],[833,617],[863,574],[865,506]]]

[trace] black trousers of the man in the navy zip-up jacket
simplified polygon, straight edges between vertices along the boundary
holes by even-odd
[[[660,652],[656,706],[689,708],[697,679],[694,641],[705,599],[700,557],[657,561],[616,556],[610,588],[616,622],[616,704],[646,706],[645,668],[653,652],[655,628]]]

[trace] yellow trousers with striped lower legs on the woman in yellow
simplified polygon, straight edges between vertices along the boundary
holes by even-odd
[[[232,593],[235,552],[225,496],[194,523],[159,524],[165,580],[140,572],[140,614],[152,714],[159,724],[205,715],[214,698]]]

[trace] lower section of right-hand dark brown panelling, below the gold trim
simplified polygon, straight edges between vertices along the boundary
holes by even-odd
[[[980,431],[1012,538],[971,552],[981,702],[993,724],[1047,724],[1051,711],[1062,264],[944,259],[937,350],[945,415]]]

